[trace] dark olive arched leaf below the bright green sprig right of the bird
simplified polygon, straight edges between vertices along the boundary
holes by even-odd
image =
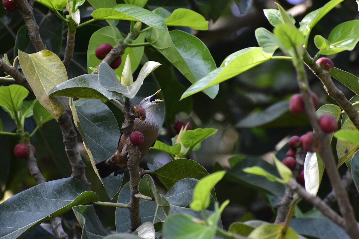
[[[165,188],[171,188],[177,181],[191,177],[201,179],[208,175],[208,172],[199,163],[191,159],[176,159],[156,169],[154,174],[163,183]]]

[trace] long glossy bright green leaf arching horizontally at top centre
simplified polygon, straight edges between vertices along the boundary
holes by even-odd
[[[118,19],[127,21],[141,21],[150,27],[165,30],[164,19],[139,6],[130,4],[117,4],[113,8],[100,8],[92,12],[91,16],[96,20]]]

